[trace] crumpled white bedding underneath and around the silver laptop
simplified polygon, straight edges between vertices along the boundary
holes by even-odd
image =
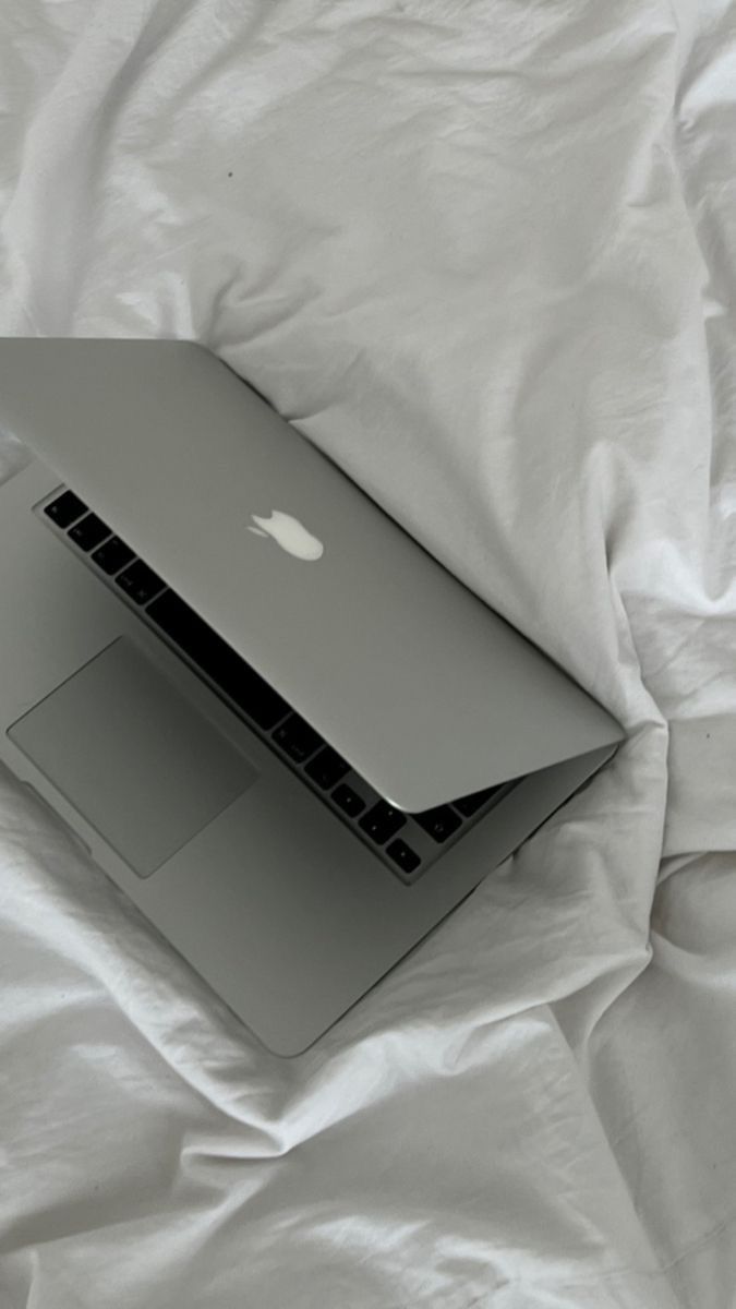
[[[627,730],[293,1060],[3,772],[0,1302],[733,1306],[733,0],[5,0],[0,72],[0,330],[204,342]]]

